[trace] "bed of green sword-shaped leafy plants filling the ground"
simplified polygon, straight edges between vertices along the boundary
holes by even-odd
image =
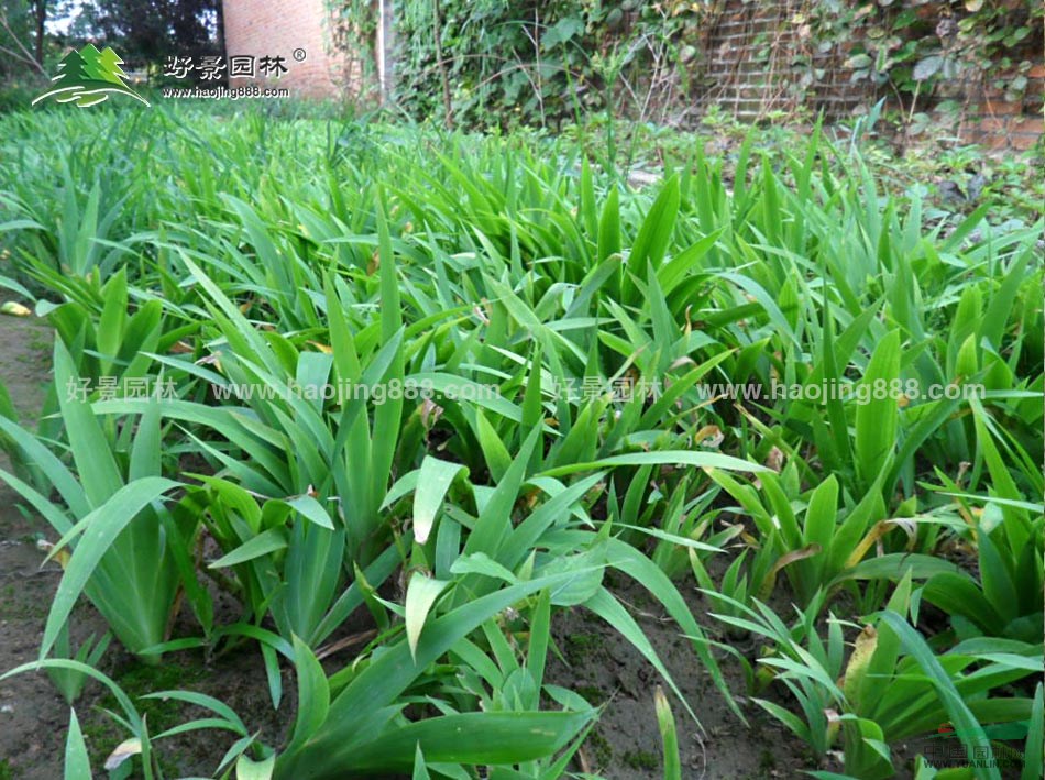
[[[581,777],[613,702],[547,678],[570,609],[660,672],[654,758],[682,777],[700,701],[620,578],[703,695],[738,724],[757,702],[820,777],[934,777],[894,750],[942,724],[950,777],[1041,774],[1043,223],[1004,179],[946,202],[818,129],[673,140],[631,186],[572,138],[2,125],[0,284],[56,338],[38,424],[0,392],[0,476],[64,568],[41,660],[4,678],[47,669],[74,705],[99,679],[117,774],[172,776],[164,746],[217,729],[222,777]],[[72,646],[82,601],[157,680],[258,653],[286,738],[127,695],[105,640]],[[154,700],[206,715],[157,726]],[[90,760],[73,714],[67,777]]]

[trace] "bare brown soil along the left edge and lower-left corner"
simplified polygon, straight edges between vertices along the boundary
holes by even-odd
[[[52,333],[31,319],[0,317],[0,381],[19,414],[20,422],[35,427],[50,381]],[[9,468],[0,454],[0,468]],[[0,673],[36,659],[51,601],[62,575],[56,563],[41,565],[45,553],[36,542],[55,534],[41,518],[23,512],[22,502],[0,482]],[[72,620],[73,646],[89,635],[101,636],[105,622],[89,604],[81,604]],[[190,630],[190,629],[189,629]],[[132,699],[163,689],[197,690],[216,695],[240,713],[264,739],[278,744],[284,715],[293,712],[294,681],[285,673],[285,700],[273,711],[258,653],[230,653],[210,663],[199,655],[168,656],[160,667],[145,667],[112,642],[99,663]],[[156,734],[204,711],[173,702],[136,702]],[[101,707],[116,702],[95,682],[88,682],[74,704],[91,765],[96,769],[127,734],[119,732]],[[0,682],[0,780],[55,780],[63,776],[65,733],[69,707],[43,672],[30,672]],[[160,744],[168,777],[210,776],[235,737],[196,732]]]

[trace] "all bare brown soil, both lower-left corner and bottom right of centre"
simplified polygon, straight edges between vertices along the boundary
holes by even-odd
[[[0,317],[0,380],[23,422],[35,419],[43,397],[51,338],[38,322]],[[36,547],[41,537],[53,540],[54,535],[43,520],[23,514],[13,492],[0,487],[0,671],[35,659],[61,578],[56,564],[41,567],[44,556]],[[615,590],[630,605],[701,721],[703,730],[676,701],[673,703],[685,777],[792,778],[814,768],[804,746],[760,708],[743,705],[748,727],[729,712],[689,641],[644,598],[642,589],[618,582]],[[704,622],[706,606],[695,592],[688,598]],[[89,605],[78,608],[74,623],[74,646],[88,634],[105,630]],[[579,609],[559,616],[556,642],[562,657],[550,663],[550,681],[579,691],[593,703],[606,704],[583,747],[585,766],[578,769],[598,772],[608,780],[662,777],[653,711],[653,691],[662,682],[657,672],[612,627]],[[143,667],[113,642],[99,666],[132,696],[169,688],[215,695],[230,704],[249,728],[262,729],[267,744],[280,743],[294,712],[293,675],[284,671],[287,697],[280,712],[275,713],[261,658],[254,652],[230,655],[210,663],[191,653],[179,653],[165,658],[161,667]],[[724,670],[738,700],[743,700],[739,670],[728,663],[724,663]],[[114,707],[114,702],[107,701],[98,684],[89,683],[75,706],[97,767],[125,737],[100,712],[102,706]],[[200,715],[170,702],[151,703],[150,732],[155,734]],[[0,682],[0,780],[62,777],[68,717],[68,705],[46,675],[22,674]],[[200,732],[162,743],[160,751],[170,770],[168,777],[209,776],[233,740],[231,735]]]

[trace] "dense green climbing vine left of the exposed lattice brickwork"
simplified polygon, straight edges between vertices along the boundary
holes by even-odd
[[[365,50],[376,30],[373,3],[330,6],[342,20],[342,45]],[[396,98],[417,117],[470,125],[558,122],[607,107],[663,120],[685,99],[702,23],[715,6],[400,0]]]

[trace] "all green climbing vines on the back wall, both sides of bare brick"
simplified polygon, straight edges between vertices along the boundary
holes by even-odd
[[[327,1],[343,46],[365,64],[374,3]],[[547,125],[603,109],[678,121],[707,87],[702,66],[716,21],[751,2],[398,0],[394,97],[418,118],[466,127]],[[1042,56],[1040,0],[781,3],[794,32],[788,45],[796,51],[785,62],[795,106],[824,78],[823,62],[805,56],[816,52],[844,48],[844,62],[831,67],[911,113],[931,101],[967,101],[970,85],[1019,99]]]

